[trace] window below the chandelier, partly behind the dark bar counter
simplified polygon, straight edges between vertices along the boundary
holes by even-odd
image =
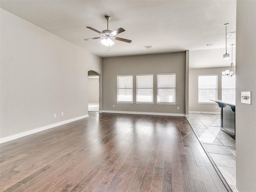
[[[236,77],[222,76],[222,100],[236,100]]]

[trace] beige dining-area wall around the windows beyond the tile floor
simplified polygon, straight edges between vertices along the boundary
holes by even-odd
[[[203,68],[189,70],[189,111],[196,112],[220,112],[217,103],[214,104],[198,104],[198,76],[217,74],[218,75],[218,99],[221,99],[221,78],[222,71],[229,70],[227,67],[220,68]],[[215,108],[217,106],[217,108]]]

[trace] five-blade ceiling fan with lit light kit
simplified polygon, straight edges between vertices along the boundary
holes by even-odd
[[[110,20],[110,16],[105,16],[106,20],[107,20],[107,27],[108,27],[108,21]],[[105,46],[112,46],[114,44],[114,42],[111,40],[111,39],[115,39],[115,40],[118,40],[118,41],[123,41],[123,42],[126,42],[126,43],[130,43],[132,42],[132,40],[128,40],[128,39],[124,39],[124,38],[120,38],[120,37],[116,37],[117,34],[119,33],[122,33],[124,32],[125,30],[123,28],[118,28],[117,30],[114,30],[114,31],[111,31],[111,30],[103,30],[102,32],[92,28],[92,27],[86,27],[90,30],[93,30],[99,34],[101,34],[102,36],[101,37],[94,37],[94,38],[88,38],[88,39],[85,39],[86,41],[88,40],[92,40],[92,39],[100,39],[100,38],[103,38],[101,40],[102,44],[104,44]]]

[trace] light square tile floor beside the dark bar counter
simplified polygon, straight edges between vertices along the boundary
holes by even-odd
[[[234,191],[236,187],[236,141],[220,129],[220,115],[189,114],[187,119]]]

